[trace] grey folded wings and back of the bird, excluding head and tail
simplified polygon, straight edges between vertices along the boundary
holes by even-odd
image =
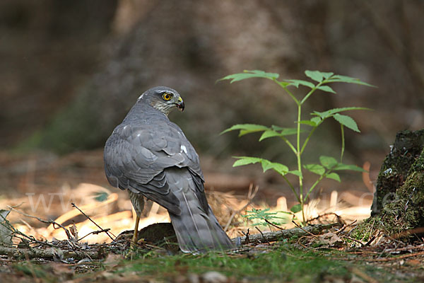
[[[179,215],[179,200],[166,182],[165,169],[187,168],[196,183],[196,195],[207,209],[203,174],[192,144],[172,122],[124,122],[114,129],[105,146],[105,171],[114,187],[141,192]]]

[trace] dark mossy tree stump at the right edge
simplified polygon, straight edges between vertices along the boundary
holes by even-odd
[[[358,231],[370,231],[372,226],[403,238],[424,227],[423,148],[424,129],[396,134],[377,178],[371,217]]]

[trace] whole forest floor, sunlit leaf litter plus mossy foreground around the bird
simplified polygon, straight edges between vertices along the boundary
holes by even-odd
[[[216,165],[206,161],[205,167]],[[131,204],[125,192],[108,187],[101,151],[64,157],[2,153],[0,168],[0,209],[5,209],[0,213],[10,211],[6,219],[16,229],[13,245],[0,246],[0,276],[8,282],[424,281],[422,239],[407,244],[382,233],[374,234],[371,241],[351,237],[355,225],[369,214],[366,176],[362,191],[338,190],[339,197],[347,196],[343,205],[338,197],[334,200],[337,193],[333,191],[327,194],[328,202],[321,200],[321,206],[309,207],[314,224],[337,222],[331,228],[315,231],[288,221],[280,230],[276,226],[258,229],[242,216],[248,207],[271,207],[271,212],[290,207],[290,197],[281,197],[281,192],[273,190],[273,176],[264,180],[252,171],[246,173],[250,178],[228,177],[222,171],[206,169],[206,179],[208,175],[214,179],[208,187],[217,188],[208,194],[213,210],[232,238],[242,238],[235,240],[240,246],[227,253],[189,255],[178,253],[171,242],[153,244],[147,236],[131,252]],[[257,193],[254,185],[249,185],[252,179],[271,189]],[[269,180],[271,185],[266,184]],[[360,187],[359,183],[350,184]],[[361,194],[368,197],[358,197]],[[352,200],[362,202],[346,203]],[[155,204],[147,209],[141,227],[167,220],[166,212]],[[331,218],[333,212],[338,217]],[[293,227],[296,232],[289,236],[268,237],[268,233],[283,233]],[[249,233],[247,241],[243,235]]]

